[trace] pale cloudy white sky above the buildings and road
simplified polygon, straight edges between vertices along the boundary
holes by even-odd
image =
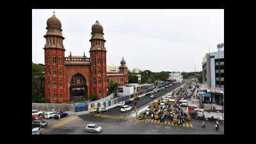
[[[44,64],[46,21],[53,10],[32,10],[32,61]],[[152,72],[202,70],[206,52],[224,42],[224,10],[171,9],[55,9],[61,21],[65,56],[90,57],[92,25],[104,29],[107,65]]]

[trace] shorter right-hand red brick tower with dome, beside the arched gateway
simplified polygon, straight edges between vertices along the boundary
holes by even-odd
[[[92,26],[92,38],[90,39],[90,58],[92,93],[97,93],[98,98],[108,96],[107,92],[107,68],[106,68],[106,47],[103,37],[103,27],[98,20]],[[90,93],[90,95],[92,94]]]

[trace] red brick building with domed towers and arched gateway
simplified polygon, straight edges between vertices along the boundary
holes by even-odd
[[[128,83],[127,66],[124,58],[119,72],[107,72],[106,47],[103,27],[98,20],[92,26],[90,58],[83,56],[65,57],[61,22],[53,14],[47,20],[44,36],[45,56],[45,97],[52,103],[91,99],[92,93],[98,98],[108,96],[108,84],[115,79],[119,85]]]

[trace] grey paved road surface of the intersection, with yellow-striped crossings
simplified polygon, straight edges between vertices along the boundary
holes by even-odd
[[[174,90],[180,85],[170,86],[161,92],[154,93],[156,97]],[[156,99],[157,99],[156,98]],[[145,106],[151,102],[147,96],[141,97],[138,101],[138,108]],[[134,108],[134,102],[131,104]],[[93,116],[68,116],[61,120],[47,120],[49,126],[44,128],[42,134],[95,134],[92,132],[84,132],[87,124],[98,124],[103,128],[99,134],[224,134],[224,124],[220,124],[220,132],[215,132],[214,122],[205,122],[205,128],[200,128],[202,120],[192,118],[190,122],[175,125],[170,120],[165,119],[163,123],[159,120],[153,120],[147,117],[144,120],[132,118],[129,116],[131,111],[122,113],[120,107],[110,109],[108,112],[95,114]]]

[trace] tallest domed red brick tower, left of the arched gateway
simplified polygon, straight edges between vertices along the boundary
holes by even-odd
[[[44,45],[45,59],[45,97],[51,102],[67,102],[65,95],[65,49],[63,46],[61,22],[53,12],[47,22]]]

